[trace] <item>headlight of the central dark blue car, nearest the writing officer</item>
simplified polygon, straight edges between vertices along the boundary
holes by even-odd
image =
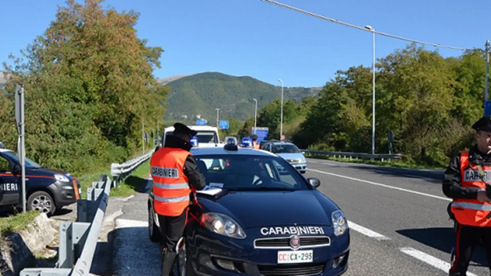
[[[214,233],[235,239],[246,238],[246,233],[244,233],[239,223],[235,222],[226,215],[218,213],[204,213],[201,216],[201,221],[205,224],[205,227],[208,230]]]

